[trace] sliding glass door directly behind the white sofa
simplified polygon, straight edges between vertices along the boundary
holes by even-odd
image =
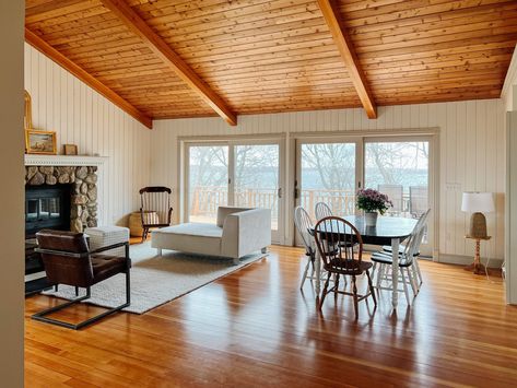
[[[271,232],[280,240],[282,189],[280,142],[187,145],[186,219],[215,223],[218,207],[271,209]]]

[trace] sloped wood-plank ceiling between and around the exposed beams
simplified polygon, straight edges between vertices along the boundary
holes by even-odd
[[[199,79],[201,92],[114,12],[120,2]],[[517,1],[26,0],[25,24],[47,51],[142,117],[224,117],[205,87],[232,122],[232,115],[366,108],[357,80],[373,108],[498,97],[517,43]]]

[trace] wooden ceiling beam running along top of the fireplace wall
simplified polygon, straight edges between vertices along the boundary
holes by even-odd
[[[137,109],[133,105],[128,103],[126,99],[120,97],[117,93],[115,93],[111,89],[106,86],[104,83],[98,81],[95,77],[90,74],[80,66],[75,64],[73,61],[64,57],[61,52],[56,50],[52,46],[42,39],[39,36],[34,34],[31,30],[25,28],[25,40],[36,48],[38,51],[46,55],[48,58],[54,60],[56,63],[61,66],[63,69],[75,75],[78,79],[83,81],[86,85],[92,87],[93,90],[101,93],[111,103],[117,105],[120,109],[125,110],[137,120],[142,122],[149,129],[153,128],[153,120],[151,117],[144,115],[139,109]]]

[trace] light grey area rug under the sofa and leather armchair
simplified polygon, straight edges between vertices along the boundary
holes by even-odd
[[[130,247],[131,268],[131,305],[124,310],[143,314],[164,303],[173,301],[214,280],[246,267],[267,254],[249,255],[234,266],[231,259],[199,256],[164,250],[156,256],[151,243]],[[125,302],[126,277],[117,274],[92,287],[92,297],[84,303],[103,307],[115,307]],[[58,292],[46,291],[45,295],[54,295],[66,299],[75,298],[74,287],[60,285]],[[84,295],[85,290],[80,290]]]

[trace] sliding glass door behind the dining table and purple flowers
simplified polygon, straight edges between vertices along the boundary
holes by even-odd
[[[386,215],[418,219],[433,208],[432,142],[426,137],[301,138],[296,142],[295,204],[316,220],[317,202],[334,215],[360,214],[360,188],[386,193],[393,208]],[[433,212],[422,245],[431,256]],[[299,243],[296,240],[296,243]]]

